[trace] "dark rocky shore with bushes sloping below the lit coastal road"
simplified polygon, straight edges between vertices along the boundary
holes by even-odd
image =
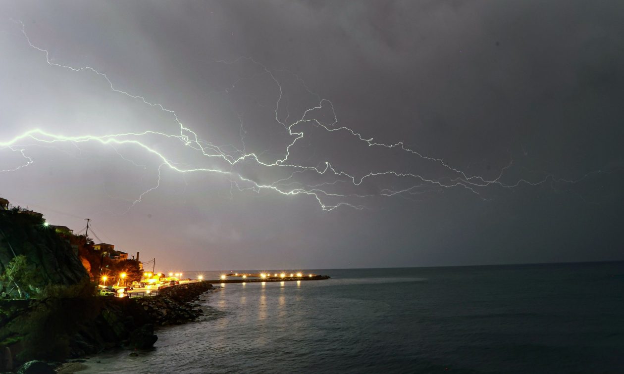
[[[193,301],[211,289],[208,282],[196,282],[138,299],[85,295],[22,302],[2,319],[0,363],[5,366],[0,371],[31,360],[56,367],[108,348],[150,348],[158,338],[155,327],[184,324],[202,315]]]

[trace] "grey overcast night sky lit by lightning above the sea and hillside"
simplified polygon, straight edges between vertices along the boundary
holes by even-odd
[[[623,12],[1,1],[0,194],[161,271],[624,259]]]

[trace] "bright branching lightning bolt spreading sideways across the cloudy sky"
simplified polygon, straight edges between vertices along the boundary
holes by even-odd
[[[285,196],[295,196],[295,195],[306,195],[312,196],[318,202],[319,206],[323,211],[331,211],[333,209],[339,208],[341,206],[348,206],[354,209],[365,209],[366,205],[363,203],[354,203],[353,201],[362,201],[366,198],[371,198],[374,196],[384,196],[384,197],[392,197],[392,196],[412,196],[415,194],[424,194],[424,193],[434,193],[436,191],[441,191],[442,189],[447,188],[464,188],[470,193],[474,193],[480,196],[480,191],[488,186],[498,186],[500,188],[515,188],[519,185],[532,185],[537,186],[547,181],[551,181],[551,183],[568,183],[574,184],[578,183],[581,180],[584,180],[588,176],[592,175],[592,173],[600,173],[600,171],[591,172],[587,175],[583,176],[579,180],[564,180],[562,178],[555,178],[555,176],[551,174],[547,174],[541,180],[537,181],[529,181],[527,179],[520,179],[515,181],[512,184],[506,184],[502,182],[502,178],[506,170],[511,168],[512,161],[500,170],[499,176],[494,180],[489,180],[484,178],[483,176],[478,175],[467,175],[465,171],[459,170],[454,166],[449,165],[446,161],[441,158],[437,158],[434,156],[428,156],[420,153],[419,151],[413,150],[410,147],[406,146],[404,141],[397,141],[396,143],[381,143],[374,141],[374,138],[369,138],[368,136],[364,136],[362,133],[357,132],[346,126],[339,126],[338,117],[336,115],[336,110],[334,109],[333,103],[326,99],[321,98],[317,93],[314,93],[308,85],[305,84],[303,79],[298,77],[297,75],[290,72],[290,70],[275,70],[271,71],[265,65],[257,62],[251,57],[239,57],[236,60],[225,61],[225,60],[217,60],[216,62],[219,64],[238,64],[241,61],[247,61],[251,64],[258,66],[261,70],[260,75],[266,75],[268,79],[270,79],[278,88],[278,97],[276,99],[275,108],[273,108],[275,122],[283,127],[286,131],[288,137],[290,137],[290,143],[285,146],[283,149],[283,156],[276,157],[272,160],[264,160],[263,153],[247,153],[246,144],[245,144],[245,125],[243,122],[243,118],[238,116],[240,120],[240,140],[242,149],[239,150],[235,146],[232,145],[215,145],[214,143],[201,139],[196,132],[191,130],[189,127],[183,125],[180,122],[177,113],[165,107],[160,103],[151,102],[147,98],[142,95],[135,95],[134,93],[127,92],[125,90],[118,89],[112,80],[109,78],[107,74],[100,72],[93,67],[85,66],[85,67],[72,67],[69,65],[57,64],[56,62],[52,62],[49,56],[49,51],[47,49],[43,49],[34,45],[30,39],[30,37],[26,34],[26,27],[21,21],[15,21],[21,25],[21,31],[24,35],[29,46],[42,52],[44,54],[46,63],[53,67],[58,67],[61,69],[68,69],[72,72],[89,72],[91,74],[95,74],[101,77],[106,84],[109,86],[109,89],[112,92],[119,93],[120,95],[124,95],[125,97],[132,98],[134,100],[139,100],[145,105],[149,105],[150,107],[157,108],[162,112],[170,115],[177,125],[178,133],[165,133],[165,132],[156,132],[152,130],[147,130],[144,132],[127,132],[127,133],[114,133],[114,134],[105,134],[105,135],[75,135],[75,136],[67,136],[59,133],[51,133],[40,128],[34,128],[31,130],[27,130],[21,135],[17,135],[16,137],[7,140],[0,141],[0,149],[9,148],[12,151],[19,151],[21,155],[26,160],[24,165],[17,166],[11,170],[0,170],[0,171],[15,171],[20,168],[24,168],[33,163],[33,160],[26,156],[24,153],[24,148],[14,148],[21,145],[22,141],[25,140],[34,140],[37,143],[44,144],[52,144],[59,142],[67,142],[73,145],[77,145],[78,143],[85,142],[96,142],[102,145],[112,146],[115,152],[124,160],[133,163],[135,166],[144,167],[145,165],[139,165],[132,160],[125,158],[119,153],[116,145],[130,145],[139,150],[145,151],[148,155],[154,156],[156,160],[160,163],[158,166],[158,179],[157,183],[154,186],[147,189],[143,193],[140,194],[138,199],[135,199],[130,204],[129,208],[124,212],[127,213],[135,204],[138,204],[142,201],[142,198],[145,194],[150,193],[154,189],[157,189],[160,186],[161,176],[162,176],[162,168],[167,167],[170,170],[177,171],[178,173],[197,173],[197,172],[205,172],[205,173],[214,173],[217,175],[223,175],[227,177],[227,180],[230,183],[231,189],[230,193],[232,193],[232,188],[238,189],[238,191],[254,191],[256,193],[260,193],[262,190],[273,191],[274,193],[282,194]],[[285,74],[291,74],[295,79],[301,84],[302,87],[306,90],[306,92],[310,93],[314,98],[316,98],[317,104],[313,107],[310,107],[303,111],[303,114],[300,117],[297,117],[295,120],[288,122],[288,119],[291,117],[291,112],[288,109],[288,105],[286,106],[286,116],[283,120],[280,120],[280,109],[281,103],[285,99],[285,92],[283,90],[283,86],[280,84],[280,80],[278,79],[276,73],[282,72]],[[254,75],[256,76],[256,75]],[[253,79],[242,77],[225,90],[226,93],[230,93],[233,90],[236,90],[237,85],[243,79]],[[314,118],[312,113],[316,110],[323,110],[325,108],[329,108],[332,113],[332,119],[330,122],[321,122],[317,118]],[[303,138],[305,138],[305,132],[303,130],[294,130],[295,128],[303,127],[305,125],[312,125],[316,128],[320,128],[328,133],[347,133],[351,138],[361,143],[366,144],[370,148],[386,148],[386,149],[398,149],[407,155],[416,156],[421,161],[426,161],[427,163],[432,163],[434,165],[439,166],[442,170],[451,174],[452,176],[447,176],[444,178],[431,178],[417,173],[411,173],[408,171],[400,171],[400,170],[384,170],[384,171],[369,171],[368,173],[364,173],[361,176],[356,176],[354,173],[348,173],[344,170],[336,170],[329,161],[324,161],[321,165],[301,165],[300,163],[293,163],[290,161],[291,150],[295,148],[298,142],[300,142]],[[216,160],[222,162],[221,166],[192,166],[186,165],[178,161],[174,161],[170,156],[163,154],[162,152],[156,150],[154,147],[150,146],[147,142],[142,141],[143,138],[146,137],[155,137],[162,138],[164,140],[174,140],[182,143],[184,147],[190,148],[190,150],[197,151],[198,155],[202,156],[206,160]],[[226,148],[228,151],[226,151]],[[186,165],[186,166],[180,166]],[[258,178],[250,178],[246,177],[245,173],[242,171],[237,171],[238,166],[245,165],[255,165],[260,168],[269,168],[285,170],[290,172],[290,175],[285,178],[277,178],[275,181],[270,183],[262,183]],[[321,178],[329,178],[329,181],[324,181],[322,183],[305,183],[301,180],[296,180],[295,178],[301,178],[308,174],[312,174],[316,177]],[[361,187],[364,180],[369,180],[373,178],[380,178],[383,176],[392,176],[399,178],[399,180],[415,180],[411,186],[407,186],[406,188],[384,188],[377,194],[370,193],[351,193],[351,192],[339,192],[340,186],[350,186],[349,188],[358,188]],[[425,188],[424,186],[430,186],[431,188]],[[329,188],[329,189],[328,189]],[[334,189],[334,191],[332,191]],[[338,192],[335,191],[338,189]],[[122,214],[124,214],[122,213]]]

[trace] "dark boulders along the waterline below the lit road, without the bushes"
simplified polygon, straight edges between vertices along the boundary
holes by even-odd
[[[66,324],[68,331],[72,331],[71,336],[66,338],[66,344],[56,342],[55,340],[62,340],[63,337],[57,336],[54,334],[54,329],[51,329],[49,330],[50,336],[37,338],[47,339],[52,342],[52,345],[58,343],[59,348],[47,352],[27,350],[25,345],[31,340],[24,337],[12,345],[9,353],[4,353],[4,355],[10,354],[11,357],[0,357],[0,361],[6,363],[31,360],[24,363],[17,369],[17,372],[44,373],[41,371],[42,365],[40,363],[32,362],[32,359],[42,360],[49,363],[50,373],[53,373],[52,368],[62,367],[70,361],[76,362],[80,357],[99,353],[109,348],[125,347],[130,350],[152,348],[158,339],[154,333],[155,328],[185,324],[197,320],[203,312],[193,302],[211,289],[213,289],[212,284],[196,282],[167,287],[161,290],[159,295],[152,297],[137,299],[94,297],[92,300],[84,300],[83,306],[97,308],[97,314],[91,318],[78,317],[72,319],[72,311],[66,310],[66,319],[63,324]],[[24,318],[23,315],[21,317]],[[23,323],[24,321],[19,322]],[[34,355],[31,352],[35,352]],[[22,359],[20,360],[20,358]],[[3,367],[0,368],[0,372],[2,369],[15,370],[14,368]]]

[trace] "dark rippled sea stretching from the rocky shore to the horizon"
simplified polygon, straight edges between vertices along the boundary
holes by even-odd
[[[212,318],[88,371],[624,373],[624,262],[313,272],[227,284]]]

